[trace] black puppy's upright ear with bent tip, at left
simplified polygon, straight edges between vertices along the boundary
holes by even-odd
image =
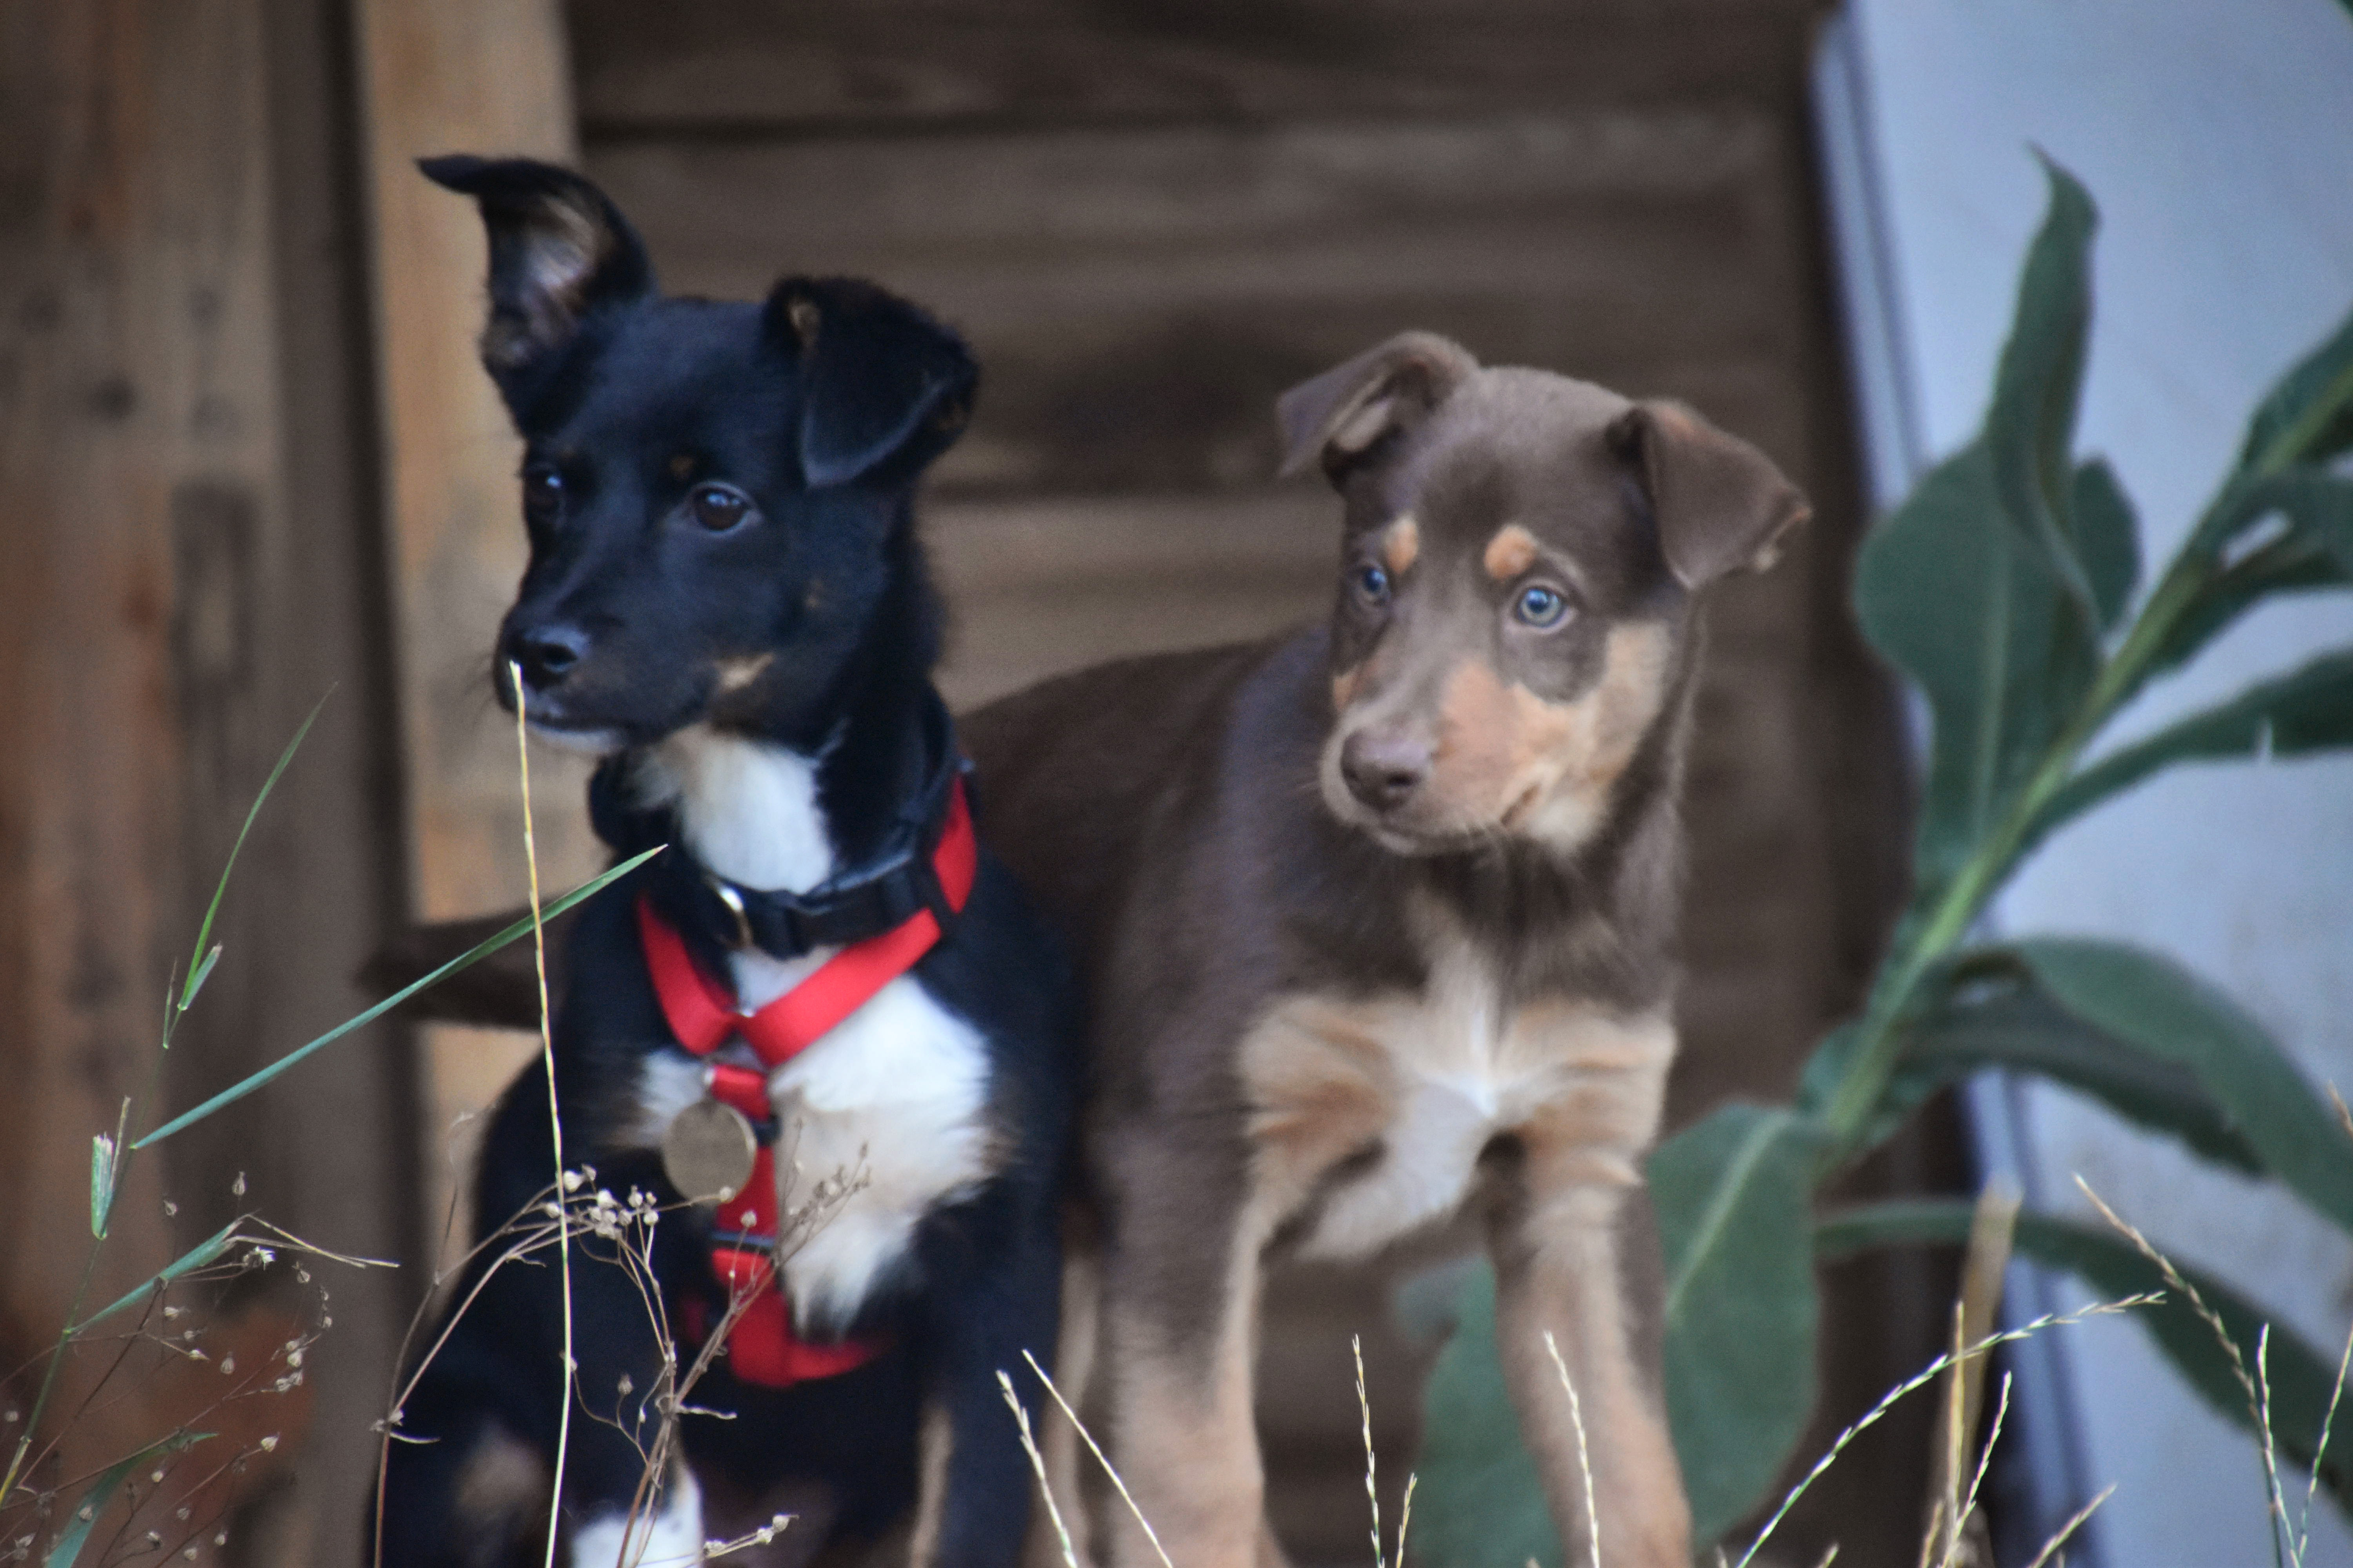
[[[482,364],[508,404],[600,306],[654,292],[645,242],[602,190],[529,158],[421,158],[426,179],[471,195],[489,230]]]

